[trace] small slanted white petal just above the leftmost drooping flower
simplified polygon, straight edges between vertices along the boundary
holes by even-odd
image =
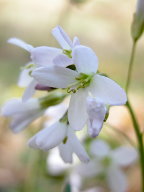
[[[37,85],[37,81],[35,79],[33,79],[31,81],[31,83],[28,85],[28,87],[26,88],[23,96],[22,96],[22,101],[26,102],[28,99],[30,99],[33,94],[35,93],[35,86]]]

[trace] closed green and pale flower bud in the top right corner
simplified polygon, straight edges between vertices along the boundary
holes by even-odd
[[[138,0],[136,12],[134,14],[131,35],[134,41],[137,41],[144,30],[144,0]]]

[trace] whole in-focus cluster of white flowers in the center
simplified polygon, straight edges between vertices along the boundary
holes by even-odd
[[[33,47],[20,39],[9,39],[9,43],[30,53],[30,62],[19,77],[18,85],[26,87],[22,99],[7,102],[2,113],[12,117],[12,130],[19,132],[47,108],[57,107],[70,98],[59,120],[34,135],[28,144],[44,151],[58,146],[65,162],[72,162],[73,153],[88,162],[89,156],[75,132],[87,125],[88,134],[98,136],[109,107],[125,104],[127,97],[116,82],[99,73],[98,58],[91,48],[81,45],[77,37],[72,41],[59,26],[52,30],[52,35],[61,48]],[[36,90],[48,94],[32,98]]]

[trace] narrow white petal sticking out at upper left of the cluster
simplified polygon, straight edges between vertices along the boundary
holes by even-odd
[[[8,40],[8,43],[11,43],[13,45],[17,45],[18,47],[21,47],[21,48],[25,49],[28,52],[32,51],[32,49],[33,49],[32,45],[29,45],[29,44],[25,43],[24,41],[22,41],[21,39],[18,39],[18,38],[10,38]]]

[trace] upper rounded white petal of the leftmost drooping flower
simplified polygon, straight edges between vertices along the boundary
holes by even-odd
[[[25,112],[33,112],[39,109],[39,102],[37,99],[29,99],[26,103],[23,103],[21,99],[11,99],[5,103],[2,108],[2,114],[4,116],[13,116]]]

